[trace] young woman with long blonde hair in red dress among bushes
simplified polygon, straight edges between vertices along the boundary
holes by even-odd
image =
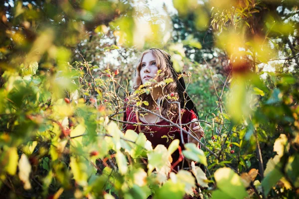
[[[162,83],[162,81],[169,80],[172,80],[169,84]],[[168,148],[174,139],[179,139],[180,146],[183,147],[180,129],[170,126],[169,121],[178,125],[186,124],[192,120],[197,120],[198,116],[194,103],[185,92],[183,78],[180,78],[172,67],[169,53],[156,48],[151,48],[142,53],[136,68],[132,95],[136,94],[141,86],[148,89],[148,92],[141,94],[139,98],[148,103],[141,103],[141,107],[136,106],[136,104],[128,104],[124,119],[144,125],[126,124],[124,129],[132,129],[138,133],[143,132],[153,148],[158,144]],[[198,139],[204,136],[204,131],[198,122],[182,127]],[[198,145],[198,142],[186,133],[182,133],[182,136],[185,143],[192,142]],[[177,150],[172,154],[172,163],[176,162],[178,158],[179,152]],[[178,166],[180,168],[175,168],[175,170],[181,169],[187,164]]]

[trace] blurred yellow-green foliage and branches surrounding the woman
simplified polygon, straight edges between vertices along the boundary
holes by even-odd
[[[299,195],[299,1],[172,2],[1,1],[1,198]],[[179,140],[121,131],[150,47],[182,71],[205,137],[181,157],[204,171],[166,169]]]

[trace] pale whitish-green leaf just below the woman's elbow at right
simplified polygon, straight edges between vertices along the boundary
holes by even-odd
[[[184,146],[186,150],[183,150],[183,155],[186,158],[200,162],[204,166],[207,166],[207,158],[201,149],[199,149],[194,143],[187,143]]]

